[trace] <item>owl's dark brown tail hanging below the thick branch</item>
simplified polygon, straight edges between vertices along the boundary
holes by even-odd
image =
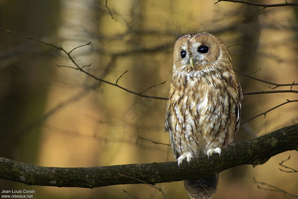
[[[196,180],[182,181],[183,187],[191,199],[209,199],[215,194],[219,173]]]

